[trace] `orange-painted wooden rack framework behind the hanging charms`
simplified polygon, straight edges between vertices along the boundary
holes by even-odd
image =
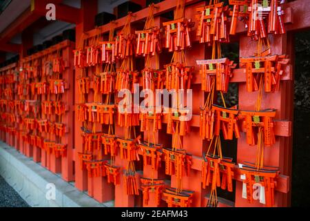
[[[305,11],[302,6],[306,6],[305,0],[293,1],[287,3],[285,13],[285,21],[287,23],[287,30],[303,29],[309,27],[309,21],[305,21],[300,17],[296,16],[297,12],[302,12],[305,17],[309,17],[309,11]],[[199,2],[196,0],[186,1],[185,17],[194,19],[194,13],[196,7],[203,6],[204,2]],[[155,23],[161,24],[165,19],[160,17],[163,12],[172,10],[176,6],[175,0],[167,0],[156,4],[158,8],[155,9]],[[76,44],[75,48],[81,48],[81,42],[84,39],[92,39],[94,35],[99,32],[106,34],[110,30],[110,24],[101,26],[97,29],[94,28],[94,18],[89,15],[96,14],[96,4],[92,1],[82,1],[81,7],[81,21],[76,24]],[[141,26],[141,21],[145,19],[148,15],[148,9],[145,8],[139,12],[134,13],[132,18],[132,26]],[[120,30],[124,23],[125,17],[118,19],[116,21],[116,30]],[[192,206],[205,206],[207,202],[208,191],[203,189],[201,182],[201,164],[203,161],[203,152],[206,151],[207,146],[205,142],[199,136],[199,107],[203,106],[205,94],[200,90],[200,76],[198,73],[199,67],[196,65],[196,60],[198,59],[208,59],[209,48],[203,44],[198,43],[198,38],[195,36],[197,21],[195,27],[192,29],[191,36],[194,37],[194,43],[192,48],[186,50],[185,54],[187,57],[187,64],[189,66],[195,66],[194,77],[192,81],[192,90],[194,95],[194,109],[193,117],[189,122],[190,133],[183,137],[183,148],[187,153],[192,154],[192,168],[189,177],[183,177],[183,189],[195,191],[194,200]],[[245,27],[242,26],[241,22],[237,25],[238,41],[240,43],[240,57],[247,57],[254,55],[256,50],[256,44],[251,41],[249,37],[246,36]],[[271,52],[274,55],[289,54],[290,57],[293,56],[291,49],[291,35],[289,33],[271,37]],[[87,42],[87,41],[86,41]],[[88,42],[89,43],[89,42]],[[1,140],[6,140],[8,144],[15,146],[19,149],[21,153],[27,155],[28,157],[33,157],[35,162],[40,162],[42,166],[50,169],[54,173],[61,173],[62,177],[66,181],[74,181],[77,189],[81,191],[87,191],[88,195],[93,197],[99,202],[107,202],[114,200],[115,206],[146,206],[142,202],[142,192],[140,191],[139,196],[126,195],[123,188],[123,169],[127,166],[127,161],[121,160],[121,157],[117,156],[115,165],[121,166],[121,184],[112,185],[107,184],[106,177],[87,177],[87,171],[80,169],[80,162],[78,153],[83,151],[83,140],[81,137],[81,122],[76,119],[76,104],[81,103],[81,97],[79,95],[77,78],[81,75],[81,69],[73,68],[73,53],[74,44],[70,41],[63,41],[61,44],[52,46],[48,50],[43,50],[43,52],[36,53],[30,57],[23,57],[23,61],[30,61],[41,56],[45,56],[48,53],[56,52],[56,50],[62,51],[62,56],[65,61],[65,73],[63,73],[63,78],[66,79],[67,85],[65,94],[63,96],[63,101],[67,103],[67,111],[63,117],[63,122],[68,124],[68,133],[65,133],[61,142],[68,144],[67,157],[56,158],[52,154],[46,153],[44,150],[39,150],[35,146],[30,144],[25,144],[21,142],[21,139],[17,139],[15,136],[8,135],[1,131]],[[165,53],[165,55],[164,55]],[[160,56],[167,56],[164,51]],[[138,61],[137,61],[138,62]],[[162,59],[160,61],[160,66],[163,68],[163,64],[167,64],[169,61]],[[152,67],[155,67],[154,58],[151,60]],[[117,64],[120,66],[120,64]],[[0,72],[6,71],[10,68],[16,67],[8,66],[5,68],[0,68]],[[141,67],[139,67],[142,69]],[[94,68],[88,68],[88,76],[92,76],[94,73]],[[271,147],[265,148],[265,164],[269,166],[280,167],[281,175],[278,179],[278,186],[276,187],[276,206],[288,206],[289,205],[289,193],[290,193],[290,175],[291,175],[291,134],[292,134],[292,108],[291,103],[293,97],[293,64],[287,65],[285,72],[281,76],[280,90],[276,93],[263,93],[262,96],[262,108],[276,108],[276,121],[274,122],[274,132],[276,135],[276,144]],[[231,82],[238,83],[239,86],[239,105],[240,110],[254,110],[254,105],[256,102],[257,92],[248,93],[245,86],[245,69],[238,68],[234,70],[234,77],[231,78]],[[91,86],[92,88],[92,86]],[[30,97],[28,97],[30,98]],[[92,102],[94,100],[93,90],[87,95],[87,102]],[[119,99],[116,100],[117,102]],[[171,146],[171,135],[165,133],[165,124],[167,123],[167,117],[163,117],[163,129],[155,134],[156,142],[162,143],[165,147]],[[90,126],[90,125],[89,125]],[[96,125],[96,130],[101,131],[105,128],[101,125]],[[238,152],[237,159],[234,162],[242,163],[245,161],[253,161],[256,158],[256,147],[249,146],[245,140],[245,126],[242,126],[241,137],[238,139]],[[123,128],[116,126],[115,128],[116,136],[123,137]],[[50,137],[54,139],[54,137]],[[144,133],[144,138],[147,139],[147,133]],[[101,149],[102,151],[102,149]],[[140,153],[141,154],[141,153]],[[108,160],[108,159],[107,159]],[[172,175],[169,177],[165,175],[164,171],[165,162],[161,162],[161,169],[156,173],[152,171],[150,166],[144,166],[141,170],[136,173],[136,180],[140,177],[147,178],[160,178],[165,180],[171,180],[171,183],[167,182],[167,186],[176,186],[176,177]],[[228,202],[225,199],[219,200],[220,206],[262,206],[258,202],[254,204],[248,204],[246,199],[242,198],[242,183],[240,182],[240,171],[238,166],[235,166],[236,173],[234,174],[234,180],[236,180],[236,201]],[[151,197],[152,198],[152,197]],[[161,206],[165,206],[165,202],[161,203]],[[152,198],[149,200],[147,206],[157,206],[156,202]]]

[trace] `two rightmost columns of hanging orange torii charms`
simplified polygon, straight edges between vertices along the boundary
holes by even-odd
[[[205,188],[205,186],[211,184],[211,194],[207,206],[218,205],[216,186],[221,186],[222,189],[226,189],[228,185],[228,191],[232,191],[231,179],[234,174],[232,172],[234,163],[232,163],[232,159],[227,160],[227,158],[222,157],[219,135],[221,130],[225,140],[232,140],[233,133],[235,133],[236,138],[240,137],[240,124],[245,125],[247,143],[251,146],[258,145],[256,163],[240,167],[241,171],[244,172],[244,175],[241,177],[244,186],[242,196],[247,198],[249,202],[253,202],[254,200],[251,194],[253,193],[253,186],[255,184],[260,184],[264,186],[264,189],[261,189],[262,197],[260,202],[266,204],[266,206],[273,206],[273,192],[276,187],[275,180],[278,176],[278,170],[269,168],[268,173],[264,172],[264,170],[266,171],[267,169],[266,167],[263,168],[263,148],[264,144],[265,146],[272,146],[272,144],[275,143],[273,133],[274,123],[272,119],[276,115],[276,110],[267,109],[260,111],[260,100],[262,99],[262,86],[264,81],[265,92],[274,92],[279,89],[280,75],[284,72],[285,65],[288,64],[289,59],[286,55],[269,55],[269,40],[265,31],[264,19],[268,18],[268,33],[274,35],[283,34],[285,33],[282,18],[283,10],[278,6],[278,1],[271,1],[271,7],[268,7],[268,1],[263,1],[262,7],[258,7],[258,1],[255,0],[251,2],[229,1],[229,3],[234,5],[233,12],[230,12],[233,16],[231,28],[229,30],[230,34],[234,35],[236,33],[236,19],[242,17],[243,21],[247,24],[248,35],[251,36],[252,39],[258,40],[258,53],[256,57],[240,58],[240,68],[245,67],[246,69],[247,90],[249,92],[259,90],[259,95],[258,101],[256,102],[256,111],[239,111],[236,109],[236,106],[226,108],[223,93],[227,93],[229,78],[232,77],[231,69],[235,68],[235,65],[226,58],[214,59],[216,53],[215,48],[217,48],[218,55],[220,56],[220,45],[218,44],[216,46],[216,41],[213,41],[212,59],[197,61],[197,64],[202,66],[200,70],[202,90],[209,93],[205,106],[200,112],[200,135],[204,139],[211,140],[204,157],[202,170],[203,187]],[[240,11],[240,6],[243,7],[243,12]],[[220,26],[223,25],[221,22],[223,20],[225,21],[225,19],[217,19],[218,16],[222,18],[224,13],[222,15],[219,15],[219,13],[225,11],[225,8],[220,7],[223,7],[223,3],[215,1],[213,5],[210,2],[209,6],[197,9],[197,11],[201,13],[200,17],[197,16],[200,19],[200,28],[198,28],[197,32],[197,35],[201,37],[200,42],[204,42],[203,39],[207,38],[208,41],[205,42],[210,44],[210,28],[214,28],[216,22],[219,22]],[[251,12],[247,12],[247,10]],[[254,13],[257,12],[256,10],[258,10],[258,12],[263,11],[262,17],[258,19],[253,18],[253,16],[256,16]],[[206,23],[203,23],[203,21]],[[209,27],[207,24],[209,24]],[[202,28],[205,28],[207,37],[205,33],[203,33]],[[225,31],[227,32],[227,30]],[[205,35],[204,37],[202,36],[203,34]],[[222,33],[222,36],[228,35],[223,35]],[[213,40],[214,39],[217,38],[213,37]],[[264,44],[265,48],[262,50]],[[216,68],[214,68],[214,65]],[[214,90],[220,91],[224,107],[213,104]],[[214,153],[211,155],[209,151],[214,137],[216,137],[214,142]],[[216,155],[216,152],[218,155]],[[242,164],[240,165],[242,166]],[[222,182],[220,182],[221,175]]]

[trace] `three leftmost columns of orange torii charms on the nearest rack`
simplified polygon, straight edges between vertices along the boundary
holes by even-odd
[[[78,108],[78,118],[84,122],[84,151],[79,153],[81,160],[81,169],[83,164],[89,163],[92,165],[92,170],[101,171],[101,173],[94,173],[94,175],[107,175],[108,181],[114,184],[120,183],[120,168],[114,166],[114,157],[119,154],[122,160],[128,160],[128,166],[123,173],[124,188],[128,195],[138,195],[138,187],[135,178],[134,160],[138,160],[136,139],[131,139],[132,128],[134,131],[134,137],[136,137],[134,126],[138,125],[138,114],[136,113],[121,113],[118,112],[117,122],[114,120],[116,108],[114,104],[110,104],[111,97],[114,92],[127,88],[133,90],[133,84],[136,82],[137,74],[134,72],[134,35],[131,33],[130,20],[132,15],[127,16],[126,24],[118,33],[116,37],[113,36],[114,29],[110,30],[109,41],[101,41],[102,53],[101,61],[105,64],[105,70],[103,73],[95,74],[94,76],[94,103],[83,104],[83,100]],[[112,27],[113,23],[111,23]],[[83,50],[81,50],[83,52]],[[118,59],[123,59],[121,68],[114,71],[114,53]],[[79,65],[79,55],[76,54],[76,64]],[[81,56],[80,56],[81,57]],[[91,63],[93,64],[93,63]],[[99,63],[98,63],[99,64]],[[115,79],[115,80],[114,80]],[[90,77],[82,76],[80,78],[80,92],[81,95],[86,95],[90,88]],[[105,103],[99,103],[99,97],[101,94],[106,96]],[[126,109],[126,107],[125,107]],[[92,122],[92,132],[87,131],[87,122]],[[109,132],[107,134],[94,131],[96,122],[109,125]],[[123,126],[125,130],[125,137],[115,137],[114,124]],[[101,146],[104,146],[104,154],[110,154],[110,163],[102,160]],[[87,148],[90,146],[90,148]],[[93,147],[92,147],[93,146]],[[119,150],[118,150],[119,149]],[[97,154],[95,154],[95,151]],[[119,153],[118,153],[119,151]],[[90,158],[90,156],[92,156]],[[85,166],[86,169],[90,169],[90,166]],[[105,172],[105,173],[103,173]],[[93,174],[90,173],[89,174]]]

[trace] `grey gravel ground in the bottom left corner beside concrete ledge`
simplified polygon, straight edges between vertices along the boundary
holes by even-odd
[[[0,176],[0,207],[29,207],[29,205]]]

